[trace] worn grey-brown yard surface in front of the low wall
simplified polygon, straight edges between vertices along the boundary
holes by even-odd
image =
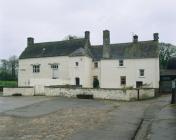
[[[0,140],[172,140],[176,106],[169,103],[170,96],[134,102],[0,97]]]

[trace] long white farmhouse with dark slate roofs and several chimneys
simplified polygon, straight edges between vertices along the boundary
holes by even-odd
[[[85,38],[34,43],[19,57],[18,85],[64,86],[84,88],[159,88],[158,33],[153,40],[110,44],[110,32],[103,31],[103,45],[91,45]]]

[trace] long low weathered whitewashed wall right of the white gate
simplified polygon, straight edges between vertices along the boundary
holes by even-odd
[[[155,97],[155,89],[86,89],[86,88],[50,88],[45,87],[46,96],[76,97],[79,94],[93,95],[95,99],[137,100]]]

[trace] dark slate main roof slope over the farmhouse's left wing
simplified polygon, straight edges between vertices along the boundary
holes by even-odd
[[[71,39],[57,42],[35,43],[26,47],[20,55],[20,59],[68,56],[79,48],[84,48],[86,39]]]

